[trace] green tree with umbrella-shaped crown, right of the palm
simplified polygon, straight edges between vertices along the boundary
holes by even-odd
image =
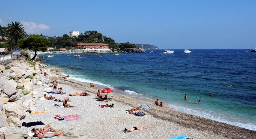
[[[27,48],[34,51],[34,57],[31,60],[34,60],[36,57],[37,51],[47,51],[48,44],[50,44],[50,41],[47,38],[35,34],[19,40],[20,48]]]

